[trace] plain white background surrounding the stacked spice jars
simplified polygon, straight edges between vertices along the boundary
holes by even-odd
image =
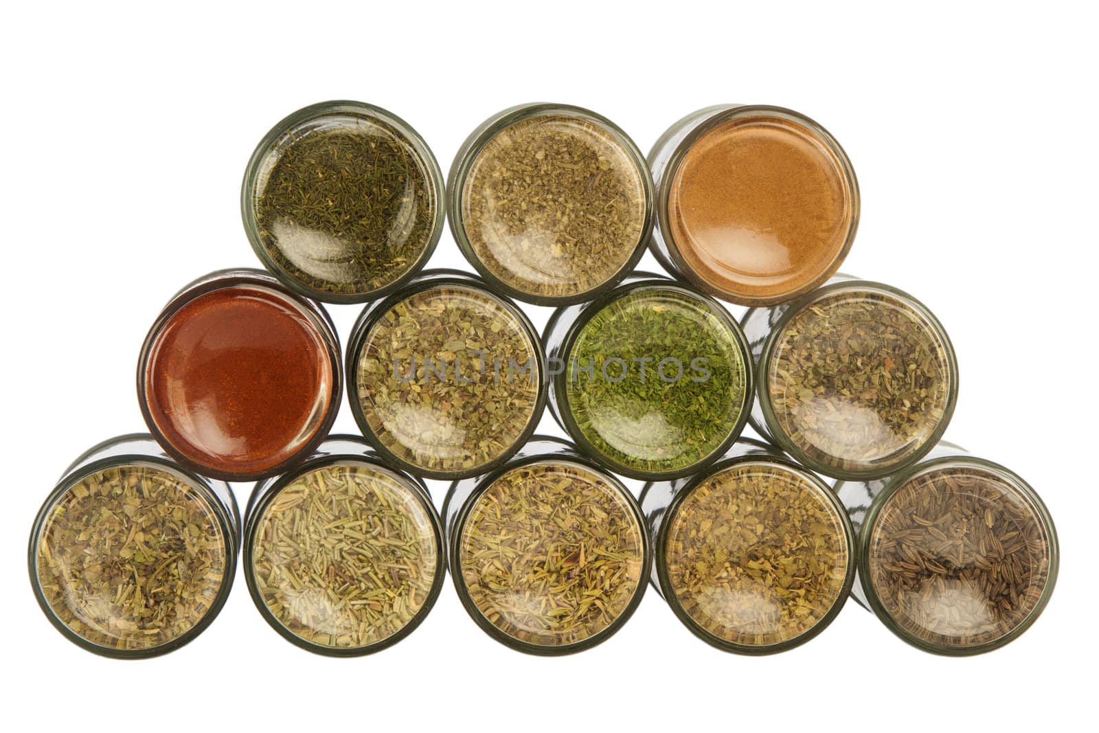
[[[1095,682],[1085,670],[1099,651],[1094,20],[1051,2],[763,5],[9,5],[0,23],[4,728],[1094,723],[1081,717]],[[718,102],[780,104],[821,122],[862,187],[843,269],[936,312],[962,374],[946,437],[1015,469],[1053,513],[1062,569],[1044,615],[1003,649],[950,659],[907,646],[848,603],[806,646],[748,658],[695,638],[650,590],[603,645],[545,659],[486,636],[447,580],[409,638],[330,659],[278,636],[237,577],[210,629],[165,657],[110,660],[67,642],[27,584],[35,511],[85,448],[144,430],[134,369],[146,329],[192,278],[258,266],[237,203],[248,155],[287,113],[337,98],[409,121],[444,175],[470,130],[526,101],[597,110],[646,152],[674,121]],[[431,265],[465,266],[448,231]],[[648,255],[642,266],[657,267]],[[330,307],[343,338],[358,310]],[[540,326],[548,313],[529,312]],[[558,433],[548,412],[543,426]],[[336,430],[354,427],[344,404]],[[243,503],[251,487],[235,488]],[[432,490],[441,502],[445,486]]]

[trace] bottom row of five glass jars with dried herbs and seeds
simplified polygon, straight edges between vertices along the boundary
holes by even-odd
[[[241,524],[229,485],[180,468],[147,435],[114,438],[38,512],[34,592],[80,646],[154,656],[217,617],[242,548],[276,631],[354,656],[423,621],[449,558],[469,615],[532,654],[604,641],[652,579],[691,632],[731,652],[802,644],[854,595],[904,641],[963,655],[1033,623],[1058,558],[1034,491],[946,443],[889,479],[832,488],[742,438],[701,475],[646,485],[639,504],[573,445],[535,436],[496,471],[452,485],[441,520],[422,481],[363,438],[333,436],[257,484]]]

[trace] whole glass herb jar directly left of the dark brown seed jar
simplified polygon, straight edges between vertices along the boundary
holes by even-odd
[[[765,443],[741,438],[692,477],[641,495],[653,585],[699,638],[728,652],[804,644],[855,579],[855,534],[835,493]]]

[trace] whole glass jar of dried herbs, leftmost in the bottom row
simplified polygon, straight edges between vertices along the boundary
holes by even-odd
[[[69,641],[121,659],[166,654],[210,625],[233,586],[241,519],[229,485],[122,435],[69,466],[38,510],[27,567]]]

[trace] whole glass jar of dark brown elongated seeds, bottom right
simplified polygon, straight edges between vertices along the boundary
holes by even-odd
[[[1053,519],[1003,466],[943,441],[892,476],[835,490],[859,537],[855,599],[909,644],[990,652],[1048,602],[1061,558]]]

